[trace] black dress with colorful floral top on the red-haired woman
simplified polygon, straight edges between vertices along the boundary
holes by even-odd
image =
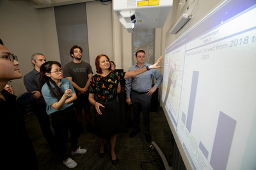
[[[116,88],[118,82],[124,79],[125,72],[118,75],[111,72],[106,77],[101,75],[93,75],[89,93],[94,94],[96,102],[104,105],[100,107],[100,115],[94,107],[94,118],[96,134],[100,138],[106,138],[117,134],[119,130],[119,104],[116,100]]]

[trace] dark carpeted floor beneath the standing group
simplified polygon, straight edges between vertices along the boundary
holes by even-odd
[[[169,166],[171,166],[172,132],[166,121],[163,109],[159,107],[157,110],[157,112],[150,112],[150,134],[152,141],[161,148]],[[42,136],[35,114],[26,114],[25,121],[35,147],[39,169],[68,169],[62,164],[60,156],[52,153],[49,149]],[[84,122],[84,127],[85,124]],[[143,129],[142,121],[141,129]],[[118,164],[116,166],[111,162],[109,141],[106,142],[106,154],[103,158],[99,158],[99,139],[96,135],[85,130],[79,137],[78,146],[86,148],[88,151],[84,155],[70,154],[70,157],[77,162],[77,167],[74,169],[164,169],[163,162],[156,149],[150,148],[150,143],[145,141],[143,130],[131,139],[129,134],[132,130],[132,114],[127,113],[127,128],[117,134],[115,151],[118,157]],[[67,143],[67,146],[68,153],[70,153],[70,144]]]

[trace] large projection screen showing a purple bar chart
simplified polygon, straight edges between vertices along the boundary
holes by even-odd
[[[186,167],[256,169],[255,3],[225,1],[165,49],[161,105]]]

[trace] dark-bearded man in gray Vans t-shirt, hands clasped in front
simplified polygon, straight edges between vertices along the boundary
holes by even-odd
[[[72,83],[76,90],[77,100],[74,101],[74,106],[77,114],[77,121],[83,131],[83,109],[84,116],[87,122],[87,130],[92,132],[92,114],[90,112],[90,102],[88,100],[88,88],[92,79],[92,66],[89,63],[82,61],[83,49],[74,45],[70,49],[70,56],[73,61],[64,66],[63,77],[66,77]]]

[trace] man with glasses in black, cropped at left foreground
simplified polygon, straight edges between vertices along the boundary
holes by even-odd
[[[21,77],[17,56],[0,44],[1,160],[8,169],[38,169],[23,113],[16,103],[16,97],[4,89],[8,81]]]

